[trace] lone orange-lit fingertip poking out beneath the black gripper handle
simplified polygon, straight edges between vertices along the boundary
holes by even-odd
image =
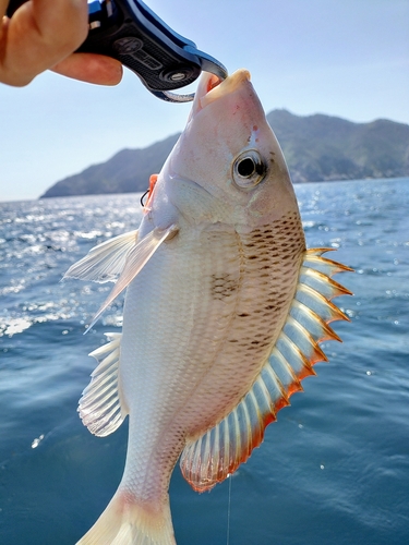
[[[110,57],[75,53],[51,69],[58,74],[99,85],[117,85],[122,78],[122,64]]]

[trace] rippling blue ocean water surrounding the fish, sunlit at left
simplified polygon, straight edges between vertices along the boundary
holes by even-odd
[[[176,468],[178,545],[409,543],[409,179],[296,192],[308,245],[356,269],[336,277],[351,322],[227,482],[199,495]],[[73,545],[121,479],[127,423],[97,438],[76,407],[122,299],[83,336],[112,284],[60,280],[141,214],[137,194],[0,203],[2,545]]]

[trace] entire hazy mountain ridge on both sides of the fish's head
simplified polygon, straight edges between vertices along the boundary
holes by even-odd
[[[378,119],[353,123],[324,116],[273,110],[267,120],[281,145],[293,182],[409,177],[409,125]],[[179,134],[57,182],[40,198],[145,191]]]

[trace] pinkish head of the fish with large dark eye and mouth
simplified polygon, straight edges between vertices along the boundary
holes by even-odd
[[[204,211],[197,209],[201,192],[192,191],[192,183],[218,203],[205,199],[206,220],[239,230],[298,211],[282,152],[246,70],[222,82],[209,73],[202,75],[187,128],[165,172],[179,184],[169,192],[173,204],[196,220]]]

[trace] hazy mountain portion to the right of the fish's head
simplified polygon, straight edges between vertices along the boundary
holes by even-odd
[[[409,125],[378,119],[352,123],[287,110],[267,116],[293,182],[409,175]]]

